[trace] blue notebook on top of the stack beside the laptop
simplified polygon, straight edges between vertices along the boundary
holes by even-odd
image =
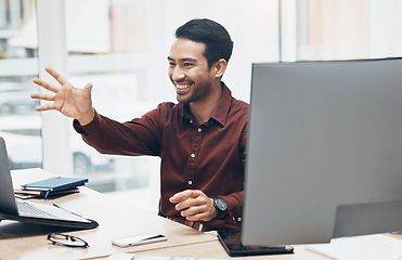
[[[21,185],[22,190],[26,191],[60,191],[68,187],[79,186],[88,182],[88,179],[83,178],[67,178],[67,177],[54,177],[37,182],[31,182]]]

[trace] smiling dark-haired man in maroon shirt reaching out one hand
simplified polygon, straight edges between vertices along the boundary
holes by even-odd
[[[220,24],[192,20],[179,27],[168,55],[177,104],[165,102],[141,118],[118,122],[96,113],[91,89],[73,87],[47,68],[62,87],[34,82],[54,94],[36,109],[74,118],[82,139],[103,154],[161,158],[159,214],[199,230],[239,229],[248,104],[221,81],[233,42]]]

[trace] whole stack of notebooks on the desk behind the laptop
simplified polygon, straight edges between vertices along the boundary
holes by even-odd
[[[62,196],[70,193],[78,193],[78,186],[85,185],[88,179],[54,177],[37,182],[21,185],[14,190],[18,198],[48,198],[49,196]]]

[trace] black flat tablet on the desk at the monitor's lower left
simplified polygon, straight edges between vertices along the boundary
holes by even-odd
[[[231,257],[293,253],[291,246],[245,246],[241,230],[219,230],[218,239]]]

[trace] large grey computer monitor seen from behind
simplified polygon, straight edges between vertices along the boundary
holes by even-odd
[[[254,64],[243,239],[402,231],[402,60]]]

